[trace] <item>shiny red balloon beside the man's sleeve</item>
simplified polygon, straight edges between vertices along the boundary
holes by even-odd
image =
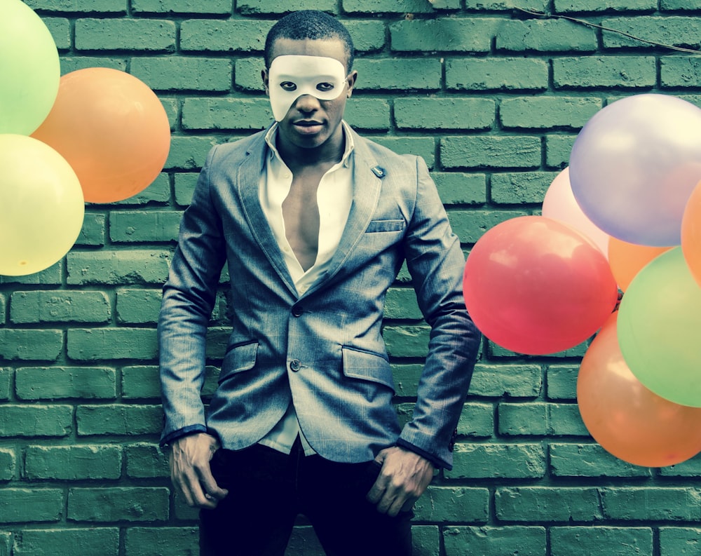
[[[606,257],[571,226],[523,216],[477,240],[465,264],[465,306],[503,348],[538,355],[585,341],[611,314],[618,288]]]

